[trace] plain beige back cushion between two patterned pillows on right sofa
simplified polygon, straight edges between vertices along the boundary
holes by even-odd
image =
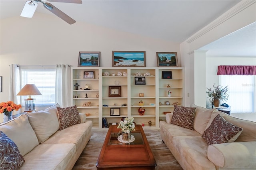
[[[200,134],[203,134],[208,122],[210,121],[213,111],[216,111],[216,109],[206,109],[197,106],[194,119],[194,130]]]

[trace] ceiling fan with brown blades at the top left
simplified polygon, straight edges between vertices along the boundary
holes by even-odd
[[[82,4],[82,0],[48,0],[50,2],[67,2],[74,4]],[[66,21],[68,24],[74,24],[76,21],[70,18],[67,14],[53,6],[48,2],[43,2],[42,0],[29,0],[25,3],[24,8],[20,14],[20,16],[32,18],[36,11],[36,7],[38,3],[41,2],[44,5],[44,8],[54,13],[56,16],[60,17],[62,20]]]

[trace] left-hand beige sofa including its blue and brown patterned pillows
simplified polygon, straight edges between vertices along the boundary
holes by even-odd
[[[0,130],[1,168],[71,170],[90,140],[92,121],[76,106],[57,104],[2,123]]]

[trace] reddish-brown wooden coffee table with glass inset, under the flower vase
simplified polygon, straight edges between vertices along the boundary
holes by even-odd
[[[131,134],[135,140],[131,143],[119,142],[118,125],[110,125],[100,155],[96,162],[98,170],[107,169],[141,169],[154,170],[156,160],[141,125],[135,125]]]

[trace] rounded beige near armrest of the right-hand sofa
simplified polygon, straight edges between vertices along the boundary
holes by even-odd
[[[207,157],[217,167],[253,169],[256,167],[256,141],[229,142],[208,146]]]

